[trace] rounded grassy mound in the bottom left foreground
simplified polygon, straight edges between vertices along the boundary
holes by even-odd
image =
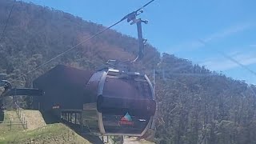
[[[90,143],[62,124],[50,124],[36,130],[8,131],[0,143]]]

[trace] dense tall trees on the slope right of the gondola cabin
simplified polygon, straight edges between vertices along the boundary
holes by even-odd
[[[156,138],[162,143],[253,143],[256,142],[255,86],[173,55],[164,54],[166,81],[159,78]],[[182,62],[182,68],[177,62]],[[184,75],[173,75],[173,73]],[[185,74],[208,74],[193,76]]]

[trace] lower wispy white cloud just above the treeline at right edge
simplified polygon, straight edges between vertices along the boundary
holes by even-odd
[[[251,64],[256,64],[256,52],[250,53],[239,53],[231,55],[236,61],[242,63],[244,66],[248,66]],[[210,58],[206,60],[206,62],[202,62],[200,65],[207,66],[211,70],[230,70],[238,67],[237,63],[234,63],[226,58]]]

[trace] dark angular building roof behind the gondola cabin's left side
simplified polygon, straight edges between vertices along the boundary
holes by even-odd
[[[86,94],[86,84],[93,74],[91,70],[55,66],[34,80],[33,87],[45,92],[42,97],[34,100],[34,104],[40,102],[44,110],[50,110],[53,106],[65,110],[82,110],[83,104],[90,101]]]

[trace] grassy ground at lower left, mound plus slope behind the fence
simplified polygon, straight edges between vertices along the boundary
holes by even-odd
[[[28,120],[29,127],[33,127],[37,122],[38,129],[24,130],[22,125],[14,125],[10,130],[10,125],[6,123],[0,123],[0,143],[90,143],[86,139],[82,138],[70,130],[69,127],[60,123],[50,124],[43,126],[39,120],[42,119],[42,115],[38,115],[36,110],[24,110],[26,113],[30,113],[26,118]],[[12,118],[18,118],[18,115],[14,110],[5,110],[3,115],[5,121],[10,121]],[[35,118],[38,117],[38,118]],[[22,129],[18,129],[20,126]]]

